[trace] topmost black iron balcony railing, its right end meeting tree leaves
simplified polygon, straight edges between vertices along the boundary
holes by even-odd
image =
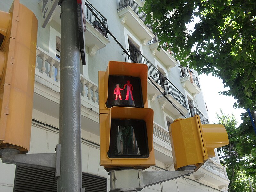
[[[132,8],[132,10],[136,13],[136,15],[139,16],[143,23],[146,21],[146,14],[143,11],[139,12],[139,5],[134,0],[119,0],[119,8],[117,9],[117,11],[124,9],[127,6],[130,6]],[[146,24],[146,26],[153,33],[152,26],[149,24]]]

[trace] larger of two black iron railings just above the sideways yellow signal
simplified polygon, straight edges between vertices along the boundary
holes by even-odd
[[[163,78],[165,94],[170,94],[177,100],[184,108],[187,109],[185,96],[166,78]]]

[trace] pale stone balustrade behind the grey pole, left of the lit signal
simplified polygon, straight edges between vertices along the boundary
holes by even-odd
[[[36,50],[36,76],[60,88],[60,59],[52,58],[47,52]],[[80,74],[81,99],[98,103],[98,85]]]

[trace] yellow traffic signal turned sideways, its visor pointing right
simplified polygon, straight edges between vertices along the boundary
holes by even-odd
[[[196,171],[207,159],[215,156],[215,148],[229,143],[222,124],[201,124],[198,115],[176,119],[169,132],[175,170],[194,165]]]

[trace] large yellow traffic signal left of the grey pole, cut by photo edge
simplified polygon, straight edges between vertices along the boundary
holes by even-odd
[[[0,11],[0,149],[29,151],[36,63],[37,19],[14,0]]]

